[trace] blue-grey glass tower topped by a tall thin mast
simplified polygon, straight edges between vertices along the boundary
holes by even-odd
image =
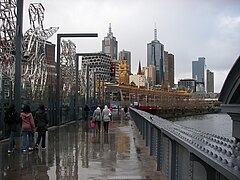
[[[164,45],[157,40],[157,29],[154,29],[154,40],[147,44],[147,66],[156,67],[156,84],[164,81]]]

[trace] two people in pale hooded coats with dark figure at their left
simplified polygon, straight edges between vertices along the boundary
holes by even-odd
[[[86,121],[88,121],[89,112],[90,112],[90,108],[88,108],[88,106],[86,105],[84,108],[84,120],[86,120]],[[99,132],[99,133],[101,132],[101,126],[103,124],[104,133],[107,134],[109,132],[109,130],[108,130],[109,122],[112,121],[111,107],[108,108],[108,106],[105,105],[104,109],[101,110],[100,106],[98,106],[93,112],[92,120],[96,124],[97,132]]]

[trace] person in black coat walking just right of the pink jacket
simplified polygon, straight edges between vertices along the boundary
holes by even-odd
[[[35,124],[36,124],[36,131],[38,132],[37,142],[35,144],[35,148],[37,149],[40,141],[42,140],[42,149],[46,149],[46,131],[47,131],[47,124],[48,124],[48,117],[47,113],[45,111],[45,107],[43,104],[41,104],[38,107],[38,111],[35,115]]]

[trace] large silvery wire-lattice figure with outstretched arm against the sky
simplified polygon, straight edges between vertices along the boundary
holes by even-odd
[[[23,41],[23,95],[27,99],[41,99],[48,75],[45,44],[58,27],[43,28],[45,9],[41,3],[30,4],[28,11],[30,28]]]

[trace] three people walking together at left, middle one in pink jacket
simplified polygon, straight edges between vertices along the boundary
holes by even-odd
[[[33,117],[29,105],[24,105],[20,115],[18,115],[15,105],[12,104],[5,112],[4,122],[7,125],[7,132],[9,134],[8,153],[12,153],[14,151],[14,137],[17,133],[19,124],[22,136],[21,149],[23,152],[32,151],[34,149],[33,144],[35,144],[35,148],[38,148],[41,140],[42,149],[46,148],[45,141],[48,118],[44,105],[39,106],[35,116]],[[36,142],[34,142],[33,138],[35,132],[38,132]]]

